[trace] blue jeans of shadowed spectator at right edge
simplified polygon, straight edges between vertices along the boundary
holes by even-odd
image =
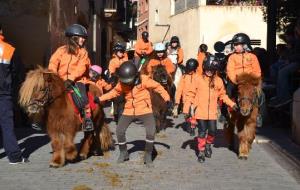
[[[293,62],[293,63],[289,63],[281,70],[279,70],[278,79],[277,79],[277,98],[279,101],[291,97],[291,94],[289,92],[291,88],[289,79],[290,76],[298,69],[300,69],[300,63]]]

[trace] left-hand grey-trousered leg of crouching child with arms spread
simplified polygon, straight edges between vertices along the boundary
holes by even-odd
[[[119,150],[120,150],[120,155],[117,161],[118,163],[122,163],[126,160],[129,160],[129,154],[127,152],[127,145],[126,145],[126,130],[133,119],[134,119],[133,116],[122,115],[118,122],[117,129],[116,129],[116,135],[117,135],[117,140],[118,140]]]

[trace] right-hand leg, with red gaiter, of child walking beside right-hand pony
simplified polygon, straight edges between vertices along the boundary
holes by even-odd
[[[208,120],[208,132],[206,138],[206,145],[205,145],[205,156],[210,158],[212,154],[211,144],[214,143],[216,132],[217,132],[217,121],[216,120]]]

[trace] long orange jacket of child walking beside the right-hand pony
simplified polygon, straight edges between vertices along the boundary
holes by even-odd
[[[230,107],[235,105],[226,95],[224,84],[220,77],[214,77],[214,88],[209,86],[210,78],[205,75],[197,75],[196,81],[196,96],[193,100],[193,104],[196,107],[196,119],[216,120],[218,99],[223,100],[223,102]]]

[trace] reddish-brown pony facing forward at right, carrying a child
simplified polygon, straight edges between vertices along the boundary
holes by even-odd
[[[232,112],[226,129],[229,147],[234,147],[234,128],[237,127],[239,159],[246,160],[255,139],[258,97],[261,93],[261,78],[243,73],[237,77],[237,103],[239,112]]]

